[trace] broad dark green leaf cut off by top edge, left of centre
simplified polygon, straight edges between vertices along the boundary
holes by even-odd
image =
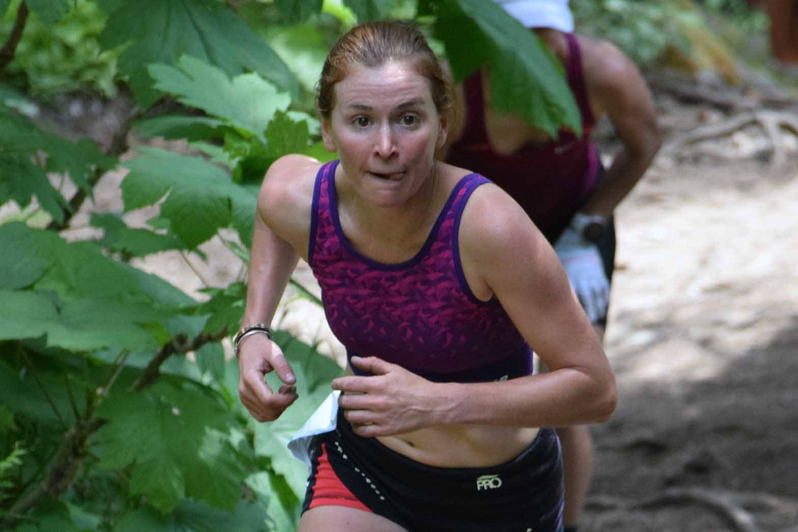
[[[279,89],[298,93],[285,63],[238,15],[215,0],[159,0],[113,2],[101,41],[107,48],[129,43],[119,59],[139,104],[151,105],[160,95],[152,88],[147,66],[174,65],[184,56],[218,66],[231,76],[255,72]]]

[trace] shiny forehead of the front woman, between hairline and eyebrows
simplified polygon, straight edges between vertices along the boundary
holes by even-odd
[[[335,85],[335,96],[342,107],[433,102],[429,80],[409,61],[388,61],[376,67],[352,65]]]

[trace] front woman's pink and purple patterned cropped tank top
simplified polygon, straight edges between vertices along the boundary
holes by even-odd
[[[385,264],[360,254],[342,231],[337,166],[324,164],[316,176],[308,263],[347,356],[379,357],[436,382],[531,374],[531,349],[496,298],[472,294],[460,264],[463,208],[488,179],[460,179],[421,250],[406,262]]]

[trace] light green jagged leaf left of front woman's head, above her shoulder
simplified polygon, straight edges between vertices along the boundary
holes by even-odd
[[[150,65],[149,72],[157,89],[256,136],[263,134],[276,111],[290,104],[287,93],[278,93],[256,73],[230,80],[222,70],[194,57],[180,57],[177,67]]]

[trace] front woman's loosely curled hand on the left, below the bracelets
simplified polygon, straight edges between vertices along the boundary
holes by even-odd
[[[274,371],[282,380],[275,393],[264,380]],[[297,400],[296,377],[282,349],[265,334],[253,334],[239,350],[239,396],[252,417],[260,422],[274,421]]]

